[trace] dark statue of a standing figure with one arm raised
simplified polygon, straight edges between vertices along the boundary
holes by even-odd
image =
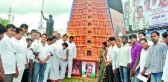
[[[52,33],[54,32],[54,20],[52,19],[52,15],[49,15],[49,19],[45,18],[43,15],[43,11],[41,11],[41,14],[43,16],[43,19],[47,21],[46,23],[46,33],[48,37],[52,36]]]

